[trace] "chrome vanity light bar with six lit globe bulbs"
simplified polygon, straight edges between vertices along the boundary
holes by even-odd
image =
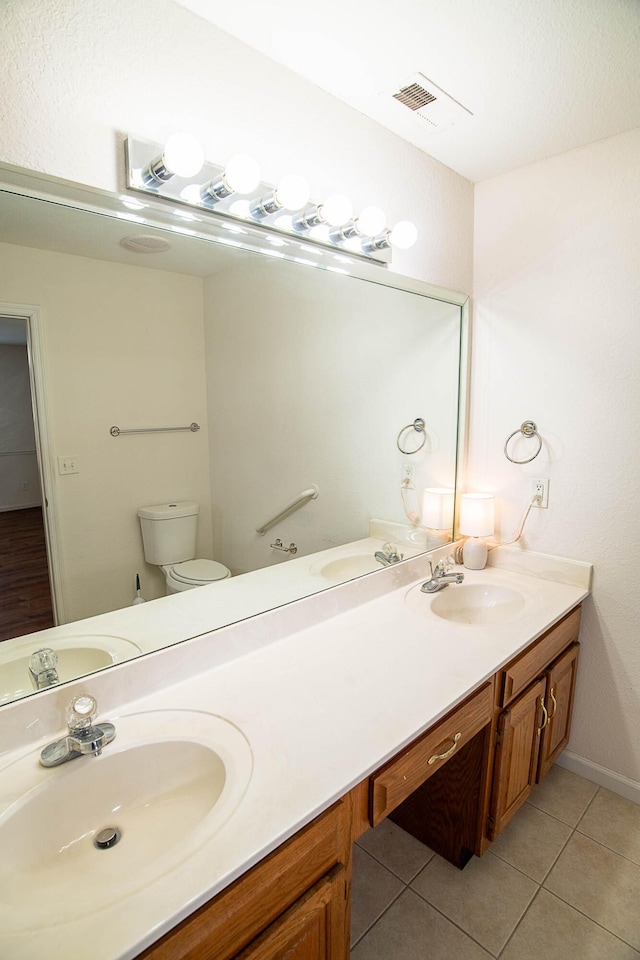
[[[382,266],[390,263],[393,246],[406,248],[417,238],[408,221],[388,229],[377,207],[354,216],[350,200],[342,194],[310,200],[308,185],[297,174],[282,177],[276,186],[265,183],[250,157],[232,157],[226,167],[209,163],[198,142],[186,134],[175,134],[164,147],[128,137],[125,148],[130,190],[215,213],[236,224],[304,239],[305,245],[338,249]]]

